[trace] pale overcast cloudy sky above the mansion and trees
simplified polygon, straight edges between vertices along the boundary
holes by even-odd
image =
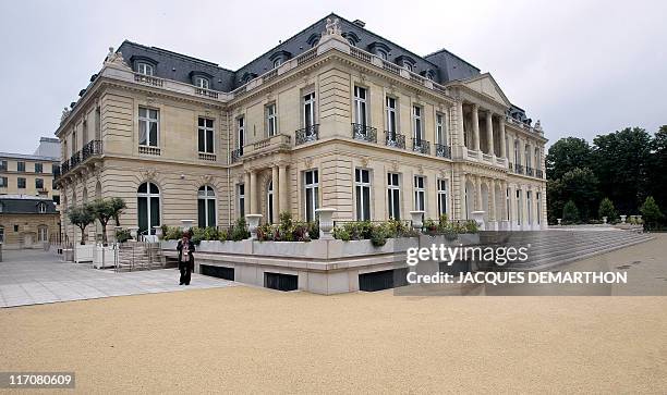
[[[32,153],[123,39],[237,69],[329,12],[490,72],[547,137],[667,124],[667,1],[1,1],[0,151]]]

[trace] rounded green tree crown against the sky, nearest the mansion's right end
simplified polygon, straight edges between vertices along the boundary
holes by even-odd
[[[549,148],[545,161],[547,178],[558,180],[571,170],[591,165],[591,146],[583,138],[561,138]]]

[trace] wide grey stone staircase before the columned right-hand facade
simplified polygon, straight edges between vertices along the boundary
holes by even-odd
[[[483,245],[529,247],[525,262],[480,264],[484,271],[547,270],[596,255],[653,239],[645,233],[605,230],[558,230],[538,232],[482,232]]]

